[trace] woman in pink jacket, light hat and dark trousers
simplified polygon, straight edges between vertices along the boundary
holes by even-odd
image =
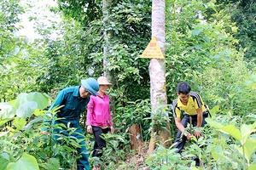
[[[106,94],[108,88],[112,86],[107,77],[97,79],[100,87],[96,96],[90,96],[90,102],[87,105],[87,132],[93,133],[95,144],[92,156],[101,157],[102,150],[106,147],[106,141],[101,138],[102,133],[113,133],[113,122],[110,114],[109,97]],[[100,169],[94,165],[93,170]]]

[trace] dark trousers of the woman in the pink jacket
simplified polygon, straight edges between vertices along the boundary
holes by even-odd
[[[95,137],[95,143],[93,147],[92,156],[101,157],[103,148],[106,147],[106,141],[102,139],[102,133],[108,133],[109,128],[95,127],[92,126],[92,133]]]

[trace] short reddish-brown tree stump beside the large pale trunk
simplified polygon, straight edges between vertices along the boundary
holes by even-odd
[[[133,124],[129,128],[130,139],[131,139],[131,150],[139,150],[141,144],[141,133],[140,127],[137,124]]]

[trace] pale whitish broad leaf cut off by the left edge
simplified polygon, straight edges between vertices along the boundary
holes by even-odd
[[[0,103],[0,120],[10,119],[15,117],[15,107],[9,103]]]

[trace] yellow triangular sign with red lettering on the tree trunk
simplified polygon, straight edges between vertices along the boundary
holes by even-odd
[[[151,41],[148,43],[148,47],[143,51],[141,58],[164,59],[164,55],[155,37],[152,37]]]

